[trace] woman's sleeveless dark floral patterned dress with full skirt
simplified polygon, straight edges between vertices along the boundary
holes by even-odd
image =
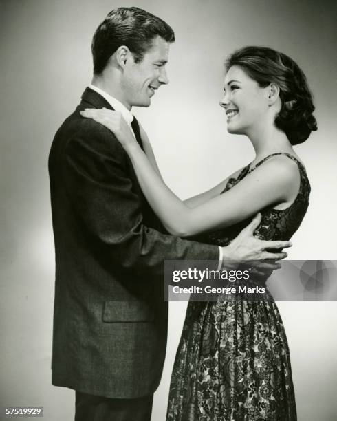
[[[243,168],[224,191],[253,169]],[[300,226],[309,204],[310,184],[301,162],[301,183],[285,210],[261,211],[256,234],[261,239],[287,240]],[[250,221],[199,235],[198,241],[224,246]],[[168,421],[294,421],[296,404],[290,352],[279,310],[273,300],[188,303],[177,349]]]

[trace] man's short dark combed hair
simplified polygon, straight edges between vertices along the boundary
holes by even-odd
[[[159,17],[140,8],[111,10],[98,26],[91,43],[94,74],[101,74],[109,58],[121,45],[129,48],[135,63],[142,61],[153,39],[160,36],[169,43],[175,41],[172,28]]]

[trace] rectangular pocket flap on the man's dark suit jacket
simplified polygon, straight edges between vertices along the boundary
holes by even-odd
[[[115,322],[142,322],[153,321],[154,314],[144,301],[105,301],[102,321]]]

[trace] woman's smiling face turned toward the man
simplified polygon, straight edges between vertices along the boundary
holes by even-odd
[[[224,98],[229,133],[249,135],[254,127],[263,125],[268,113],[269,87],[260,87],[239,66],[232,66],[225,76]]]

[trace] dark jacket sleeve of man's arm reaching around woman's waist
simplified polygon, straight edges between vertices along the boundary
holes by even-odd
[[[102,125],[83,120],[67,141],[62,162],[76,217],[114,265],[162,277],[165,259],[219,259],[217,246],[164,235],[143,224],[142,198],[130,178],[129,157]]]

